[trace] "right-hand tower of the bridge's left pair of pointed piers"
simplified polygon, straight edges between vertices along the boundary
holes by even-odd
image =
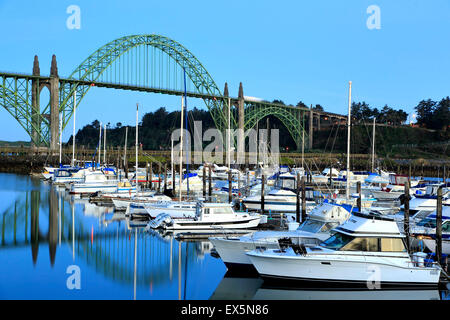
[[[56,56],[52,57],[50,68],[50,150],[59,149],[59,76]]]

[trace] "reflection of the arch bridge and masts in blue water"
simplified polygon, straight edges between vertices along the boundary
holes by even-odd
[[[87,265],[115,283],[132,285],[135,299],[139,287],[167,285],[174,278],[177,298],[186,298],[188,267],[208,253],[209,242],[181,242],[149,233],[112,208],[74,199],[50,185],[30,189],[0,212],[0,250],[30,247],[36,265],[48,245],[52,268],[57,251],[69,250],[73,264]]]

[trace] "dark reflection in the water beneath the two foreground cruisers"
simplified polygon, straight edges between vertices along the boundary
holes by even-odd
[[[239,290],[236,290],[239,288]],[[258,276],[227,272],[210,300],[450,300],[446,290],[278,287]]]

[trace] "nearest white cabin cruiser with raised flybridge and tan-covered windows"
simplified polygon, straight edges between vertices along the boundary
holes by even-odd
[[[319,246],[290,245],[248,252],[265,279],[384,286],[437,287],[441,268],[425,266],[420,254],[406,251],[393,219],[354,213]]]

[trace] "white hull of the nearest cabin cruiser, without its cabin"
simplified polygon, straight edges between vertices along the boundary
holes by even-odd
[[[368,256],[330,259],[265,255],[256,251],[248,255],[262,278],[286,283],[338,284],[373,289],[378,285],[437,287],[440,276],[440,271],[436,268],[395,266],[377,262]]]

